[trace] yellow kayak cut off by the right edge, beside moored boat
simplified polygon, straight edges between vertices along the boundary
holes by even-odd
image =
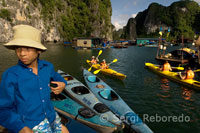
[[[187,79],[187,80],[183,80],[179,77],[178,73],[177,72],[163,72],[163,71],[160,71],[159,70],[159,67],[158,66],[155,66],[154,64],[152,63],[145,63],[145,66],[147,68],[149,68],[150,70],[152,70],[153,72],[165,77],[165,78],[168,78],[172,81],[175,81],[177,83],[180,83],[182,85],[185,85],[185,86],[188,86],[190,88],[194,88],[194,89],[197,89],[199,90],[200,89],[200,82],[199,81],[196,81],[196,80],[193,80],[193,79]]]

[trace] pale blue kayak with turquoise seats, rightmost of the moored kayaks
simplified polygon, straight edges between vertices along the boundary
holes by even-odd
[[[87,70],[83,70],[83,76],[87,86],[95,96],[134,131],[140,133],[152,133],[152,130],[142,122],[139,116],[122,100],[122,98],[105,82]]]

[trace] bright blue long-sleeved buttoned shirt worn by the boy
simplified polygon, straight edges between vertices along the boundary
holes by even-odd
[[[38,59],[38,75],[21,61],[3,73],[0,83],[0,125],[18,132],[47,118],[55,119],[50,100],[50,81],[67,82],[51,63]]]

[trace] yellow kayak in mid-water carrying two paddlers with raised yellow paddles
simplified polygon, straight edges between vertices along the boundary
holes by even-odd
[[[91,66],[90,60],[86,60],[86,62]],[[95,69],[100,69],[100,64],[93,65],[92,67]],[[106,75],[116,77],[121,80],[124,80],[126,78],[126,75],[124,75],[122,73],[118,73],[117,71],[112,70],[112,69],[101,69],[100,72],[103,74],[106,74]]]

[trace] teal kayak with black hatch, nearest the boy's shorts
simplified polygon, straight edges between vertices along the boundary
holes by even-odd
[[[85,108],[77,102],[73,101],[65,94],[65,92],[59,95],[51,93],[51,100],[55,110],[59,112],[59,114],[75,119],[99,132],[110,133],[117,129],[115,125],[109,122],[102,122],[98,115],[94,114],[94,112],[92,112],[90,109]],[[76,126],[76,128],[80,129],[79,126]],[[84,128],[81,130],[82,132],[85,132],[88,129]],[[91,130],[88,131],[91,132]]]

